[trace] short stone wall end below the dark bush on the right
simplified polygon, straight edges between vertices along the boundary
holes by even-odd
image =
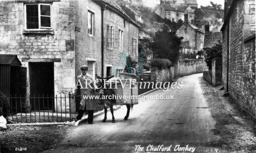
[[[222,63],[220,57],[215,57],[212,60],[212,84],[213,86],[221,85],[222,80]]]

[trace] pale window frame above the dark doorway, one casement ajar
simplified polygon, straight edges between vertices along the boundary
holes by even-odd
[[[38,5],[38,29],[28,29],[27,28],[27,5]],[[41,27],[41,5],[49,5],[50,6],[50,20],[51,27]],[[43,15],[48,17],[47,15]],[[25,30],[52,30],[52,3],[28,3],[24,4],[24,29]]]

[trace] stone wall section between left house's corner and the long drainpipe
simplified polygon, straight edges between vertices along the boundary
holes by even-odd
[[[80,67],[94,62],[95,74],[101,76],[101,7],[91,0],[74,1],[76,38],[76,77],[81,74]],[[88,34],[88,11],[94,13],[94,34]],[[95,76],[93,76],[95,77]]]

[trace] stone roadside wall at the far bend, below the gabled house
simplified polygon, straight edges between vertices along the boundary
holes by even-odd
[[[202,73],[204,71],[204,60],[179,60],[176,64],[175,76],[186,76]]]

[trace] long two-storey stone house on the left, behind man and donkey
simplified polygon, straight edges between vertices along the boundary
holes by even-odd
[[[27,97],[72,92],[83,64],[106,76],[121,51],[138,56],[139,26],[109,0],[1,1],[0,22],[0,54],[17,55]]]

